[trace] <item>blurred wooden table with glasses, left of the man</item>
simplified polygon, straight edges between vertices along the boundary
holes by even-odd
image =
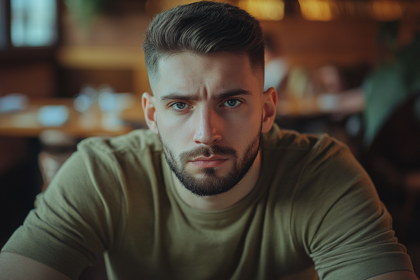
[[[66,123],[62,126],[42,126],[38,121],[38,111],[44,105],[66,105],[69,112]],[[130,123],[138,123],[140,126],[144,123],[140,104],[136,104],[122,115],[128,116]],[[88,120],[88,125],[85,120]],[[106,129],[102,125],[102,114],[99,110],[95,110],[90,115],[79,113],[74,110],[71,98],[30,99],[26,110],[0,114],[1,136],[38,137],[39,133],[45,129],[54,129],[76,138],[86,138],[89,136],[118,136],[130,132],[134,128],[134,126],[123,123],[118,128]]]

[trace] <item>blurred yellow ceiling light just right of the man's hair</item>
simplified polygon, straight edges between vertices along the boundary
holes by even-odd
[[[279,21],[284,16],[283,0],[240,0],[239,6],[260,20]]]

